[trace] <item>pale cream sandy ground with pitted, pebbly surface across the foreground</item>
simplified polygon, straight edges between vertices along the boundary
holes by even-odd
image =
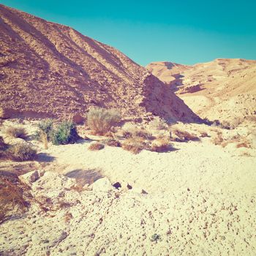
[[[256,158],[242,156],[244,148],[203,138],[133,155],[89,151],[90,143],[41,151],[50,162],[33,195],[69,205],[33,206],[1,224],[0,255],[255,255]],[[105,176],[121,188],[70,189],[67,176],[83,173],[84,183]]]

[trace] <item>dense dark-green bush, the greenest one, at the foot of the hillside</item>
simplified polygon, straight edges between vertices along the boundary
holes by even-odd
[[[80,136],[72,121],[62,121],[50,132],[50,140],[53,145],[75,143],[79,139]]]

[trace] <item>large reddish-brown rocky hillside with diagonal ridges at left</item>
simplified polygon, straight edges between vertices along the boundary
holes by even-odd
[[[126,116],[197,116],[144,67],[78,31],[0,4],[2,116],[60,117],[90,106]]]

